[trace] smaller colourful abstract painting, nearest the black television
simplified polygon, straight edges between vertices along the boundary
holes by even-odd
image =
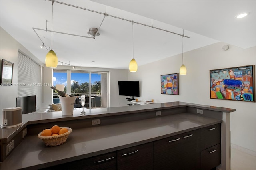
[[[179,73],[161,75],[161,94],[179,95]]]

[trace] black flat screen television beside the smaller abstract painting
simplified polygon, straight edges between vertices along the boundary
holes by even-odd
[[[118,81],[120,96],[140,96],[139,81]]]

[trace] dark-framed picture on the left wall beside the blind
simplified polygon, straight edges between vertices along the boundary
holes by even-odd
[[[12,84],[13,63],[2,59],[0,84]]]

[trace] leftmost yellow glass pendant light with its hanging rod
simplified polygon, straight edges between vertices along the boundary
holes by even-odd
[[[53,0],[52,0],[52,16],[53,16]],[[52,25],[53,25],[53,21],[52,21]],[[50,68],[56,68],[58,65],[58,57],[52,49],[46,54],[45,65],[46,67],[50,67]]]

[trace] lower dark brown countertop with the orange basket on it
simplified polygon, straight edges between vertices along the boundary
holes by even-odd
[[[149,106],[155,109],[153,104]],[[132,107],[128,107],[127,110],[130,108],[132,110]],[[88,115],[90,116],[89,113]],[[73,116],[76,117],[76,114],[74,113]],[[45,146],[37,135],[26,136],[6,160],[1,162],[0,167],[1,170],[44,168],[152,142],[221,122],[222,120],[219,119],[192,113],[180,113],[140,121],[75,129],[66,143],[54,147]]]

